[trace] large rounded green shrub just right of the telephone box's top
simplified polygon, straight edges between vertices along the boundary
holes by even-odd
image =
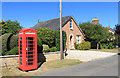
[[[36,29],[38,36],[42,40],[42,44],[47,44],[50,47],[55,46],[55,34],[53,30],[47,27],[40,27]]]

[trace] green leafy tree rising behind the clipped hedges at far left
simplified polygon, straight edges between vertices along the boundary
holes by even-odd
[[[17,34],[20,29],[22,29],[22,26],[17,21],[6,21],[8,26],[8,33]]]

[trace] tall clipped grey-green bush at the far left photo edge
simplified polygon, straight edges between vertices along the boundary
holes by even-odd
[[[6,33],[2,36],[0,36],[0,40],[2,40],[2,55],[5,55],[6,52],[8,51],[9,47],[9,38],[12,36],[11,33]]]

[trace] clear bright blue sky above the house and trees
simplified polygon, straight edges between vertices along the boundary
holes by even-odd
[[[59,18],[59,2],[2,2],[2,19],[17,20],[24,28]],[[98,18],[102,26],[118,24],[118,2],[63,2],[62,16],[72,15],[76,22],[91,22]]]

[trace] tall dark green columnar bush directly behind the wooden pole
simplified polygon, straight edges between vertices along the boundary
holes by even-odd
[[[63,50],[65,50],[66,47],[66,32],[63,31]],[[55,31],[55,44],[56,44],[56,48],[57,51],[60,51],[60,30],[56,30]]]

